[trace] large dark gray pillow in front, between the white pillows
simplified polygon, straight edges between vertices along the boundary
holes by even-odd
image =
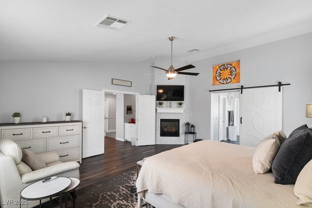
[[[312,159],[312,129],[301,126],[283,142],[272,164],[274,183],[294,184]]]

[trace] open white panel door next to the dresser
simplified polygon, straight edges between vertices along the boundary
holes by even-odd
[[[82,92],[82,158],[104,153],[104,92]]]

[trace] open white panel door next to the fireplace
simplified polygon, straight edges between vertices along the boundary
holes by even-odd
[[[137,146],[155,145],[156,96],[137,95]]]

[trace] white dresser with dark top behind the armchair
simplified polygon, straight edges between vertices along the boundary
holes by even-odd
[[[34,153],[56,151],[60,161],[81,163],[81,121],[0,124],[0,139],[12,139]]]

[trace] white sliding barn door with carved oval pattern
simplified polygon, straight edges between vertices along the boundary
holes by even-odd
[[[278,87],[244,89],[240,113],[239,144],[256,147],[265,136],[282,129],[282,92]]]

